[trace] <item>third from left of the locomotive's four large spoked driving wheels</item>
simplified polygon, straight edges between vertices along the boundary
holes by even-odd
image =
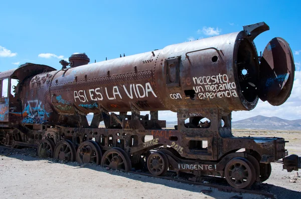
[[[98,165],[101,159],[99,146],[95,146],[92,141],[82,142],[76,151],[76,161],[79,163],[94,163]]]

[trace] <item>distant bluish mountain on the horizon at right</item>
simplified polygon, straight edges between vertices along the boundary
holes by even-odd
[[[301,119],[286,120],[279,117],[257,115],[232,122],[235,129],[301,130]]]

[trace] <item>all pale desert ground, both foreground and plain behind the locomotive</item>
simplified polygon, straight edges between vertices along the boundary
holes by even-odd
[[[301,155],[301,132],[234,130],[235,136],[284,137],[289,154]],[[33,149],[0,147],[0,198],[265,198],[262,195],[221,192],[207,186],[147,177],[76,162],[40,159]],[[300,172],[301,175],[301,172]],[[299,175],[299,176],[300,176]],[[290,183],[289,181],[294,181]],[[301,177],[272,163],[268,180],[252,189],[266,190],[276,198],[301,198]],[[206,190],[212,190],[207,192]]]

